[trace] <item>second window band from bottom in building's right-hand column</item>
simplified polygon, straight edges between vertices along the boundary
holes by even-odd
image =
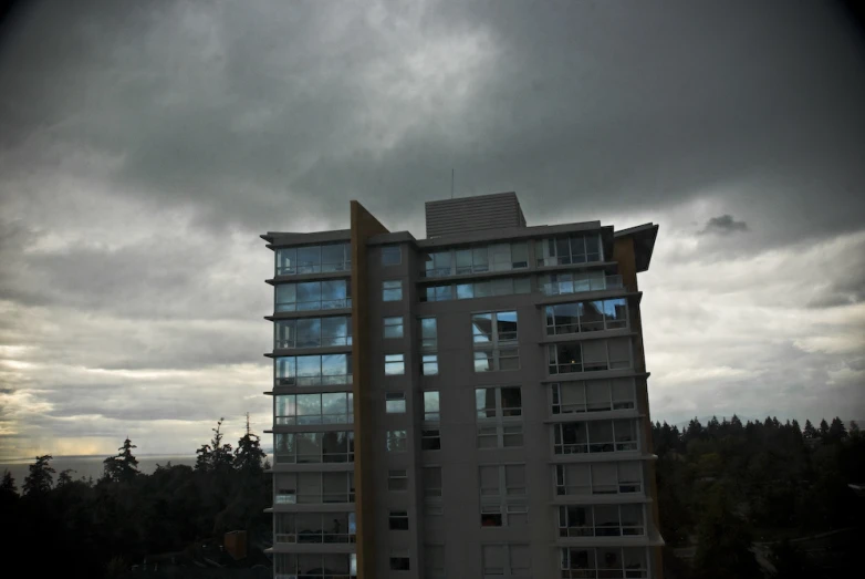
[[[560,537],[627,537],[645,534],[642,504],[559,507]]]

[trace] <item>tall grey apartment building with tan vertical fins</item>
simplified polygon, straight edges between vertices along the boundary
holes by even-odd
[[[659,578],[637,272],[658,227],[529,227],[515,194],[427,238],[261,236],[273,279],[275,577]]]

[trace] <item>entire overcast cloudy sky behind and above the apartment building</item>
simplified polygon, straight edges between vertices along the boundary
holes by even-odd
[[[35,1],[0,37],[0,459],[270,422],[272,254],[348,199],[660,225],[653,420],[865,418],[865,42],[828,1]],[[265,441],[269,446],[269,442]]]

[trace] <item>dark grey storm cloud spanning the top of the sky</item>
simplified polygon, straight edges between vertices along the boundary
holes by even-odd
[[[865,215],[863,46],[825,2],[118,4],[21,19],[52,40],[9,42],[6,142],[118,155],[114,179],[202,223],[278,229],[346,197],[402,223],[451,167],[539,220],[723,195],[784,242]],[[411,83],[476,53],[462,99],[459,63]]]

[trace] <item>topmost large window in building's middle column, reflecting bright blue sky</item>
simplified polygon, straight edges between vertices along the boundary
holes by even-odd
[[[471,317],[475,371],[519,370],[517,312],[475,313]]]

